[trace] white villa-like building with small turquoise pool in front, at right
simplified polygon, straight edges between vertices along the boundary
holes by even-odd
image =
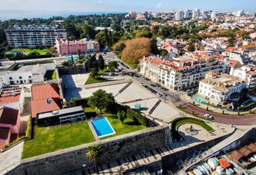
[[[228,100],[236,101],[238,94],[247,88],[247,82],[238,77],[223,73],[202,79],[199,83],[199,95],[215,104],[226,104]]]

